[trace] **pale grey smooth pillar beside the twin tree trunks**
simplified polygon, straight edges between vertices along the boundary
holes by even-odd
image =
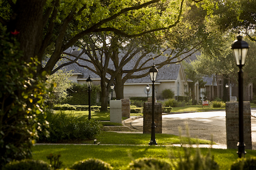
[[[110,100],[110,122],[122,123],[122,101]]]

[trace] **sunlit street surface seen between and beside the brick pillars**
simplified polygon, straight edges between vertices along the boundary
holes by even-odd
[[[256,115],[256,110],[251,110]],[[226,145],[226,112],[207,111],[162,116],[162,133],[207,139]],[[143,118],[130,122],[130,126],[143,131]],[[251,117],[252,148],[256,149],[256,118]]]

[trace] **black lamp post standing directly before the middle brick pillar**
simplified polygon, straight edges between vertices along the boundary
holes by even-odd
[[[157,145],[155,140],[155,80],[158,70],[155,68],[155,65],[149,70],[149,75],[152,81],[152,124],[151,124],[151,140],[149,145]]]

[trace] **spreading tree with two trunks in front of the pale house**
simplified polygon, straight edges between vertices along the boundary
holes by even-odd
[[[102,109],[107,109],[109,88],[112,82],[116,84],[117,99],[121,99],[123,98],[123,84],[128,79],[148,75],[146,70],[151,68],[153,62],[159,69],[165,64],[180,62],[202,48],[208,48],[211,37],[204,33],[204,17],[200,18],[206,15],[206,12],[192,4],[190,7],[191,10],[183,13],[182,21],[173,25],[171,31],[161,31],[129,39],[108,32],[92,34],[84,38],[83,43],[77,43],[83,49],[82,53],[86,54],[85,57],[65,56],[64,58],[99,75]],[[197,15],[195,15],[196,12]],[[205,45],[204,42],[208,44]],[[148,57],[149,53],[153,55],[151,58]],[[166,56],[165,60],[158,60],[161,55]],[[83,65],[81,60],[92,64]],[[132,66],[130,62],[133,62]],[[112,64],[112,67],[109,67],[109,64]]]

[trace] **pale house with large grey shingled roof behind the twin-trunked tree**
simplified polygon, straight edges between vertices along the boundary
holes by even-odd
[[[68,49],[68,51],[72,51],[72,49]],[[192,54],[194,56],[198,55],[200,53]],[[139,54],[137,54],[139,55]],[[154,55],[153,53],[149,53],[148,56]],[[120,53],[119,58],[121,59],[123,54]],[[85,54],[82,55],[83,58],[86,58]],[[184,57],[184,56],[183,56]],[[136,56],[133,60],[129,61],[123,69],[130,69],[133,67],[133,64],[135,63]],[[161,63],[166,60],[166,56],[163,54],[160,57],[158,57],[156,60],[153,60],[151,63],[147,63],[148,66],[151,66],[153,64]],[[85,62],[83,60],[78,60],[78,62],[81,65],[88,65],[89,67],[93,68],[93,64],[89,62]],[[154,62],[154,63],[153,63]],[[113,67],[113,64],[110,62],[109,67]],[[157,68],[157,67],[156,67]],[[70,73],[72,76],[70,77],[70,80],[76,83],[86,83],[86,79],[91,77],[93,80],[93,84],[98,85],[100,84],[100,77],[99,75],[93,73],[89,69],[85,69],[84,67],[80,67],[77,64],[73,63],[70,65],[66,65],[64,67],[66,71],[71,71]],[[134,74],[141,74],[146,73],[148,70],[143,70],[139,72],[135,72]],[[107,78],[110,79],[110,75],[107,74]],[[147,97],[147,90],[146,86],[147,84],[150,85],[149,89],[149,97],[152,96],[152,81],[147,75],[146,77],[139,78],[139,79],[128,79],[124,83],[123,87],[123,95],[124,98],[130,98],[130,97]],[[186,79],[186,75],[184,73],[184,68],[181,62],[179,63],[172,63],[172,64],[166,64],[161,68],[158,68],[157,78],[155,82],[155,97],[157,99],[162,99],[162,91],[164,89],[171,89],[175,96],[186,96],[187,92],[191,91],[191,88],[189,88],[188,81]],[[198,93],[197,93],[198,94]],[[113,92],[113,97],[115,97],[115,93]],[[197,95],[197,98],[198,95]]]

